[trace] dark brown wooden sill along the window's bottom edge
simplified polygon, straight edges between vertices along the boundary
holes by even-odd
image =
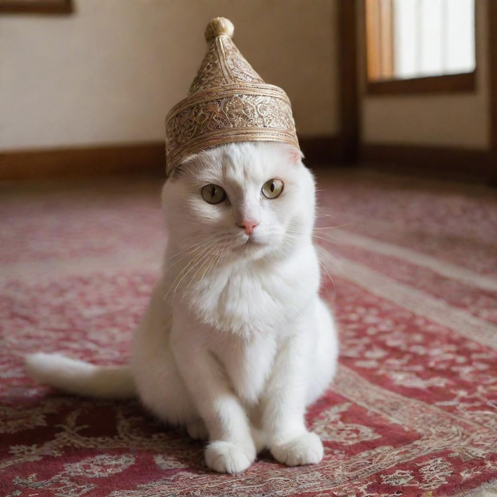
[[[428,76],[409,80],[368,81],[368,95],[392,95],[409,93],[454,93],[475,91],[476,72]]]

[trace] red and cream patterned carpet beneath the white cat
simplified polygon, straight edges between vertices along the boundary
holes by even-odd
[[[262,457],[227,476],[137,403],[63,397],[22,367],[36,350],[126,361],[165,241],[160,182],[2,188],[0,497],[496,495],[490,190],[321,177],[319,226],[346,225],[316,230],[341,329],[335,382],[308,416],[325,459],[287,468]]]

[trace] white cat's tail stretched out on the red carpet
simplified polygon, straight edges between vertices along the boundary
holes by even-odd
[[[28,375],[63,392],[97,399],[136,396],[129,366],[95,366],[61,354],[37,352],[25,358]]]

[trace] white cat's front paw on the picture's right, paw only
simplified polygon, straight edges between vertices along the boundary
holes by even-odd
[[[317,464],[323,459],[323,443],[316,433],[305,432],[271,447],[274,459],[288,466]]]

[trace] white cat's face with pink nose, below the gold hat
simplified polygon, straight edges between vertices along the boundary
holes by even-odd
[[[259,259],[308,239],[315,187],[295,148],[243,142],[180,166],[166,181],[163,205],[175,248],[191,247],[199,257]]]

